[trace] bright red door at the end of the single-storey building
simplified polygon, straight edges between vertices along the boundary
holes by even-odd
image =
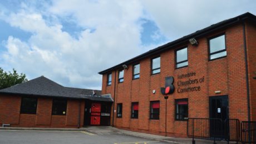
[[[91,125],[100,125],[101,104],[92,103],[91,107]]]

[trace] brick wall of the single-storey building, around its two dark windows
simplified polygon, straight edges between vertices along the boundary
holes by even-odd
[[[79,107],[80,106],[80,107]],[[80,127],[83,126],[85,102],[67,101],[67,115],[52,115],[52,98],[38,97],[37,114],[19,114],[21,96],[0,95],[0,125],[11,124],[12,127],[73,127],[78,126],[79,109]]]

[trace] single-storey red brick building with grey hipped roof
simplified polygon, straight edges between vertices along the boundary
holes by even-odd
[[[41,76],[0,90],[0,125],[110,125],[112,98],[99,90],[67,88]]]

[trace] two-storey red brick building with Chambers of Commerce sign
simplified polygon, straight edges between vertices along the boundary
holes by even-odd
[[[213,24],[99,74],[115,127],[186,136],[190,117],[256,121],[256,16]]]

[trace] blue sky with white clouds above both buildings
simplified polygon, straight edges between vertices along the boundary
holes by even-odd
[[[99,71],[250,12],[256,1],[1,1],[0,67],[101,89]]]

